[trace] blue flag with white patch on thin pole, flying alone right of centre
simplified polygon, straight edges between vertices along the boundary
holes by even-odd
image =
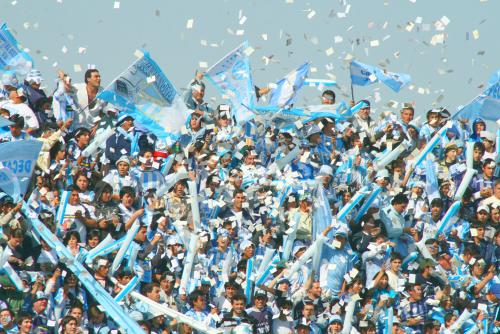
[[[357,86],[367,86],[381,81],[396,93],[411,82],[411,77],[405,73],[389,72],[378,67],[360,63],[357,60],[351,62],[351,82]]]

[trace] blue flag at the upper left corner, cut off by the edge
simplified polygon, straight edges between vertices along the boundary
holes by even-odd
[[[31,56],[19,49],[19,44],[7,24],[2,24],[0,27],[0,71],[13,70],[20,75],[26,75],[32,67]]]

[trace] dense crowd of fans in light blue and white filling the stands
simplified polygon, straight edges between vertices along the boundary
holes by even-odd
[[[0,141],[43,143],[26,202],[111,296],[138,277],[135,292],[232,333],[499,331],[498,148],[482,119],[452,120],[440,108],[419,121],[411,104],[375,115],[362,101],[347,120],[283,127],[260,114],[235,124],[229,105],[205,102],[197,75],[184,96],[191,115],[172,145],[96,98],[98,70],[84,79],[73,84],[60,72],[50,95],[37,70],[26,78],[4,74],[0,114],[12,124],[0,129]],[[262,98],[268,89],[256,93]],[[325,90],[321,103],[335,102]],[[412,165],[447,122],[427,159]],[[103,145],[82,154],[109,127]],[[405,145],[399,157],[377,168],[380,154],[398,145]],[[438,231],[466,172],[467,147],[477,173]],[[365,196],[336,219],[363,191],[377,191],[375,199]],[[328,214],[319,215],[325,206]],[[0,193],[3,254],[24,284],[20,291],[7,273],[0,276],[0,333],[119,332],[21,207]],[[117,270],[116,251],[88,261],[105,238],[131,231]],[[300,262],[314,247],[319,261]],[[133,294],[120,305],[146,333],[196,332]]]

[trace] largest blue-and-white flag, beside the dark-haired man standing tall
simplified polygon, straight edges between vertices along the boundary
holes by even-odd
[[[122,107],[159,138],[176,139],[189,116],[174,85],[145,51],[97,97]]]

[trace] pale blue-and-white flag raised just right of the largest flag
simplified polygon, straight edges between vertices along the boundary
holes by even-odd
[[[250,60],[245,53],[247,48],[248,42],[243,42],[205,73],[217,90],[229,98],[231,111],[238,124],[243,124],[254,117],[248,109],[253,106],[255,90]]]

